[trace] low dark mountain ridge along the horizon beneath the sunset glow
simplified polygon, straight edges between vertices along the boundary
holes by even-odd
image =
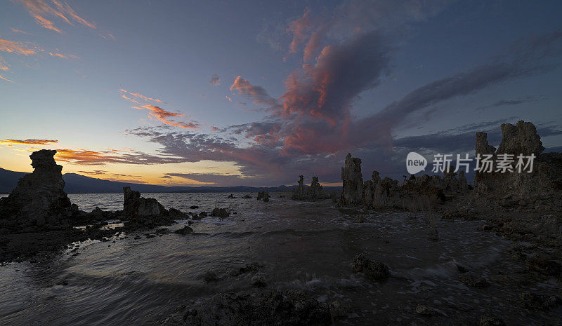
[[[0,193],[10,193],[18,184],[18,180],[26,172],[14,172],[0,168]],[[256,192],[263,191],[265,187],[255,186],[157,186],[154,184],[131,184],[115,182],[93,177],[85,177],[76,173],[65,173],[65,191],[67,193],[122,193],[124,186],[141,191],[150,192]],[[294,186],[273,186],[268,191],[291,191]],[[326,189],[341,189],[341,187],[326,187]]]

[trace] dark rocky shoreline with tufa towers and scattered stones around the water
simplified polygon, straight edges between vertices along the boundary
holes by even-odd
[[[476,313],[463,311],[462,305],[443,304],[443,298],[440,301],[428,294],[426,299],[418,299],[414,306],[405,308],[412,319],[421,320],[421,325],[507,325],[503,320],[506,318],[497,315],[497,311],[518,311],[528,316],[527,320],[545,314],[546,320],[551,321],[552,315],[561,309],[562,290],[541,290],[535,285],[552,282],[560,285],[562,282],[562,154],[542,153],[544,147],[532,123],[504,124],[502,133],[498,149],[488,144],[485,133],[477,133],[476,154],[492,158],[504,154],[534,155],[536,161],[532,172],[477,173],[474,186],[469,184],[464,172],[457,174],[452,170],[445,170],[442,176],[412,176],[403,182],[381,178],[379,172],[373,171],[370,179],[363,181],[360,158],[351,154],[345,158],[341,169],[343,189],[339,200],[336,199],[337,207],[329,209],[353,217],[353,222],[369,222],[373,215],[380,213],[405,213],[407,220],[420,219],[429,225],[432,234],[429,242],[438,243],[439,220],[443,219],[445,223],[483,220],[485,222],[478,227],[478,232],[494,232],[507,240],[517,241],[509,245],[508,254],[499,259],[499,264],[485,270],[479,266],[457,264],[452,276],[447,276],[451,278],[448,281],[462,287],[462,291],[474,298],[494,297],[493,291],[497,291],[511,301],[502,301],[501,305],[488,308],[486,313]],[[23,177],[7,198],[0,198],[0,261],[3,263],[34,260],[38,254],[39,257],[51,257],[65,249],[69,254],[77,254],[72,252],[73,243],[86,239],[115,241],[123,234],[134,236],[134,239],[150,239],[171,233],[168,236],[190,239],[196,234],[191,226],[197,229],[200,219],[208,216],[228,219],[237,215],[231,208],[220,207],[202,212],[181,212],[164,207],[155,198],[144,198],[129,187],[123,189],[122,210],[110,212],[96,208],[84,212],[72,204],[65,193],[62,167],[55,163],[54,155],[55,151],[34,152],[30,156],[34,172]],[[303,175],[299,176],[298,186],[291,197],[295,201],[310,201],[297,203],[306,208],[329,203],[329,196],[323,193],[318,177],[312,177],[311,185],[305,186]],[[235,198],[232,194],[228,196],[228,199]],[[272,203],[260,202],[269,202],[270,198],[268,191],[260,192],[256,197],[258,204],[266,208]],[[251,202],[256,203],[255,200]],[[197,208],[197,205],[191,206],[192,210]],[[108,220],[122,225],[108,228]],[[191,226],[172,228],[177,220],[188,220]],[[285,231],[291,235],[299,232],[294,229]],[[374,235],[367,238],[371,237]],[[280,243],[284,244],[285,238]],[[462,239],[459,245],[464,245]],[[366,281],[379,289],[386,282],[398,279],[396,266],[363,252],[372,248],[357,246],[354,241],[348,247],[355,251],[346,262],[346,271],[353,274],[352,279]],[[244,282],[247,281],[247,288],[228,290],[231,287],[226,283],[242,277]],[[198,301],[181,303],[173,313],[160,318],[159,323],[332,325],[359,313],[349,301],[319,301],[309,291],[296,290],[287,284],[275,285],[272,278],[257,262],[228,273],[206,271],[202,283],[209,287],[224,285],[223,290]],[[422,288],[421,285],[418,287]],[[503,293],[507,292],[506,288],[519,290],[509,290],[506,296]]]

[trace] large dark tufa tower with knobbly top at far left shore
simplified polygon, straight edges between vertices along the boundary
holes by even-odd
[[[0,198],[2,218],[19,226],[60,225],[77,212],[64,191],[63,167],[55,162],[56,152],[41,149],[30,155],[34,171],[22,177],[7,198]]]

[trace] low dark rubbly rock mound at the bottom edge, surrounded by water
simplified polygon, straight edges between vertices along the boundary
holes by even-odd
[[[187,310],[185,313],[183,311]],[[302,290],[275,290],[265,293],[219,293],[183,313],[186,325],[216,326],[328,326],[332,324],[329,306]],[[274,313],[273,313],[274,312]],[[168,323],[166,323],[168,322]],[[164,325],[174,325],[174,316]]]

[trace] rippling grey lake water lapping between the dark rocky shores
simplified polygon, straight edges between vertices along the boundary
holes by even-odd
[[[263,203],[256,193],[252,199],[240,198],[244,193],[234,193],[235,199],[228,193],[144,193],[166,208],[228,207],[237,215],[195,221],[195,232],[186,236],[122,235],[115,243],[80,243],[78,255],[51,262],[1,266],[0,325],[152,325],[181,304],[250,290],[253,274],[229,275],[251,262],[263,264],[270,289],[296,287],[320,301],[347,301],[351,312],[338,325],[464,325],[476,324],[482,313],[500,315],[508,325],[555,325],[561,313],[521,314],[510,301],[523,290],[516,286],[492,282],[481,289],[459,282],[457,264],[489,278],[522,268],[507,252],[511,243],[476,231],[482,222],[438,221],[436,238],[429,224],[402,212],[373,212],[360,223],[329,201],[271,194]],[[69,197],[81,210],[122,209],[122,194]],[[350,264],[360,252],[387,264],[391,278],[372,282],[353,273]],[[207,284],[206,271],[222,280]],[[442,315],[419,315],[417,304]]]

